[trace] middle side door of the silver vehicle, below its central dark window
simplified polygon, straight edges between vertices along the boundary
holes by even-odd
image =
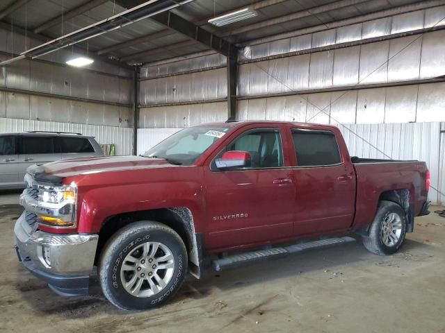
[[[33,164],[44,164],[60,160],[56,135],[22,135],[19,149],[19,177]]]

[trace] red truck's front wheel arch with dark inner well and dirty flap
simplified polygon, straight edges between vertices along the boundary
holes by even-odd
[[[115,232],[118,232],[118,230],[130,223],[143,220],[163,223],[179,234],[179,237],[184,241],[187,248],[189,271],[195,278],[199,279],[203,252],[202,235],[195,232],[193,214],[188,207],[168,207],[138,212],[124,212],[122,214],[109,216],[105,219],[104,223],[102,223],[99,231],[95,262],[97,263],[106,241],[108,241]]]

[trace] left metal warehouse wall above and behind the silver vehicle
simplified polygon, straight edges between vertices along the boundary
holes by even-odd
[[[2,29],[0,39],[1,60],[10,58],[7,53],[23,51],[25,42],[28,48],[40,44]],[[118,154],[131,154],[131,71],[100,61],[88,69],[67,67],[65,61],[73,56],[62,50],[1,68],[0,133],[79,132],[95,136],[100,144],[115,144]]]

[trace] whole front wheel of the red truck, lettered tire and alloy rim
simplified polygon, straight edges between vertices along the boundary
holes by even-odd
[[[149,309],[179,289],[187,261],[184,241],[174,230],[154,221],[131,223],[113,235],[102,251],[102,291],[120,309]]]

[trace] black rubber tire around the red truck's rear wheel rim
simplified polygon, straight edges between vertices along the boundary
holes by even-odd
[[[400,237],[398,237],[398,240],[394,241],[394,244],[389,246],[383,241],[382,238],[385,238],[385,236],[382,236],[381,232],[385,230],[382,230],[382,228],[385,228],[385,220],[389,219],[390,216],[394,216],[390,215],[392,213],[396,214],[401,219],[401,234]],[[369,250],[369,252],[375,253],[376,255],[392,255],[397,252],[403,244],[403,241],[405,241],[406,228],[407,219],[403,208],[391,201],[382,200],[378,203],[377,213],[369,228],[368,236],[363,237],[363,245],[366,250]]]

